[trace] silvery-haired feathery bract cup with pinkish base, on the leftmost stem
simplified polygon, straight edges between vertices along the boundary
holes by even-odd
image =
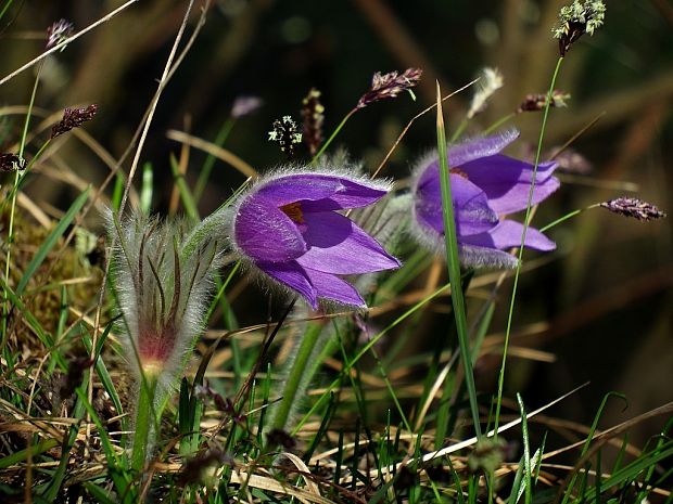
[[[122,220],[107,210],[105,221],[116,328],[136,377],[156,380],[158,402],[202,333],[219,244],[186,218],[161,220],[134,209]]]

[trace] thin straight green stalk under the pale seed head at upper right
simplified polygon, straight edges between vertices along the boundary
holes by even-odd
[[[517,271],[515,272],[515,282],[511,290],[511,300],[509,303],[509,313],[507,315],[507,328],[505,329],[505,345],[503,347],[503,364],[500,365],[500,375],[498,377],[498,397],[495,404],[495,422],[494,422],[494,437],[498,435],[498,425],[500,421],[500,406],[503,403],[503,388],[505,386],[505,364],[507,363],[507,349],[509,348],[509,335],[511,333],[511,321],[515,312],[515,300],[517,297],[517,288],[519,286],[519,274],[521,273],[521,258],[523,256],[523,245],[525,243],[525,233],[528,231],[531,220],[531,202],[533,201],[533,191],[535,190],[535,178],[537,176],[537,167],[539,165],[539,158],[542,156],[542,142],[545,138],[545,129],[547,127],[547,117],[549,116],[549,108],[551,106],[551,94],[556,86],[556,79],[561,69],[563,63],[563,56],[560,56],[556,63],[554,76],[551,77],[551,83],[549,85],[549,91],[547,92],[547,103],[545,104],[545,113],[542,118],[542,127],[539,128],[539,139],[537,140],[537,152],[535,153],[535,165],[533,167],[533,177],[531,181],[531,190],[529,192],[529,203],[525,209],[525,219],[523,220],[523,234],[521,235],[521,247],[519,248],[519,260],[517,262]]]

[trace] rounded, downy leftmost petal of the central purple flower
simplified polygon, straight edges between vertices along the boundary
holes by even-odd
[[[306,251],[296,224],[258,194],[240,206],[234,235],[236,244],[255,261],[284,262]]]

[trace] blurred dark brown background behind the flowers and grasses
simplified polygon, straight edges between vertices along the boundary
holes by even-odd
[[[2,76],[43,50],[43,31],[54,21],[64,17],[81,29],[122,3],[13,2],[1,20]],[[99,113],[85,129],[119,158],[155,92],[187,3],[140,1],[50,56],[36,107],[55,113],[65,106],[98,103]],[[356,114],[340,134],[336,144],[347,146],[368,169],[376,169],[407,121],[432,103],[435,79],[447,92],[469,82],[484,66],[496,66],[505,87],[470,122],[467,133],[479,133],[516,109],[525,94],[546,91],[558,57],[550,29],[561,4],[214,1],[205,27],[164,92],[143,151],[141,161],[154,166],[154,208],[165,211],[168,206],[169,155],[179,155],[180,150],[166,131],[188,129],[213,141],[240,95],[259,96],[264,106],[237,121],[225,147],[259,171],[283,161],[277,145],[267,141],[267,132],[283,115],[300,119],[301,101],[309,88],[322,92],[329,133],[379,70],[417,66],[424,76],[416,102],[404,94],[376,103]],[[535,216],[538,225],[622,195],[673,208],[673,5],[666,0],[608,1],[607,5],[605,27],[593,38],[583,37],[566,59],[557,88],[572,99],[568,108],[551,111],[545,139],[546,147],[563,144],[600,116],[572,144],[593,168],[586,175],[567,176],[561,190]],[[195,26],[199,7],[196,2],[189,30]],[[27,104],[34,78],[28,70],[3,85],[0,107]],[[468,90],[447,102],[449,128],[457,127],[471,95]],[[20,138],[23,116],[3,113],[0,119],[5,150]],[[541,120],[541,114],[532,113],[511,121],[522,131],[512,155],[530,153]],[[384,175],[406,177],[414,159],[432,146],[434,134],[433,115],[416,121]],[[34,153],[36,145],[29,145],[28,152]],[[306,152],[302,155],[308,157]],[[203,159],[193,150],[190,169],[200,167]],[[73,138],[59,144],[45,160],[50,163],[93,183],[109,173],[100,156]],[[129,160],[124,169],[128,166]],[[188,179],[193,181],[196,175],[188,171]],[[201,214],[221,204],[243,180],[218,163],[200,202]],[[636,186],[637,192],[627,191]],[[34,178],[28,192],[38,204],[61,207],[75,194],[71,184],[54,183],[53,175]],[[550,352],[556,360],[512,358],[510,391],[521,390],[534,406],[591,380],[591,387],[566,402],[560,413],[579,422],[591,422],[604,393],[626,393],[628,409],[624,412],[622,403],[613,402],[605,426],[673,399],[671,225],[671,219],[640,223],[595,209],[550,232],[558,251],[523,275],[513,333],[517,345]],[[250,287],[252,296],[258,296],[255,289]],[[510,292],[506,283],[492,326],[496,333],[505,327]],[[245,297],[241,299],[236,308],[244,312]],[[442,318],[429,321],[419,326],[426,331],[419,337],[432,338]],[[498,365],[497,356],[478,365],[484,389],[494,386]],[[649,434],[653,431],[644,431],[643,437]]]

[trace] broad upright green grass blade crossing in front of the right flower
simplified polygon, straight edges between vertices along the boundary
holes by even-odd
[[[454,306],[454,319],[460,344],[460,357],[465,369],[465,383],[470,399],[470,410],[474,422],[474,431],[481,437],[479,423],[479,405],[477,404],[477,387],[472,373],[472,359],[470,357],[468,322],[465,310],[465,297],[460,285],[460,261],[458,259],[458,241],[456,237],[456,221],[454,218],[454,205],[450,189],[450,176],[448,171],[448,156],[446,153],[446,134],[444,132],[444,117],[442,112],[442,94],[437,82],[437,151],[440,155],[440,181],[442,184],[442,215],[444,218],[444,243],[446,246],[446,266],[448,280],[452,286],[450,299]]]

